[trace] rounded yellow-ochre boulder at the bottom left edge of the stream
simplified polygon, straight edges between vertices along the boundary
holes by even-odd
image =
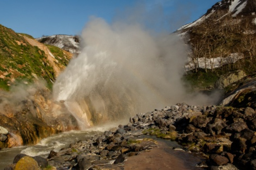
[[[14,170],[40,170],[37,161],[32,157],[24,156],[15,165]]]

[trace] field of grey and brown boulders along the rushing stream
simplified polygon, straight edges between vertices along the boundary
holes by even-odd
[[[5,170],[18,169],[22,162],[26,166],[30,164],[26,162],[33,162],[31,166],[39,169],[125,169],[127,157],[157,147],[157,142],[146,135],[175,140],[185,151],[204,153],[206,161],[198,162],[204,168],[255,170],[255,131],[256,113],[250,107],[176,104],[138,113],[127,125],[70,144],[59,152],[51,151],[47,159],[19,154]]]

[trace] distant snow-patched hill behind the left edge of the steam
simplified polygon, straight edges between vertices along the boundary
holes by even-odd
[[[52,36],[43,36],[37,38],[40,43],[49,44],[68,51],[74,55],[78,55],[79,51],[79,37],[72,35],[52,35]]]

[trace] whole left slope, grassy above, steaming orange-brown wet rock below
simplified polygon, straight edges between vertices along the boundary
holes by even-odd
[[[78,129],[63,104],[51,101],[49,90],[71,57],[0,25],[0,129],[5,130],[0,132],[0,149],[36,144],[49,135]]]

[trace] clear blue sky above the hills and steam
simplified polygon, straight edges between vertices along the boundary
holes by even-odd
[[[0,0],[0,24],[34,38],[53,34],[80,34],[90,16],[111,23],[134,6],[151,11],[174,31],[190,23],[220,0]],[[143,5],[141,5],[143,4]],[[137,7],[138,9],[138,7]],[[161,11],[161,15],[156,14]],[[132,13],[132,12],[131,12]],[[138,13],[139,14],[139,13]],[[169,25],[170,24],[170,25]]]

